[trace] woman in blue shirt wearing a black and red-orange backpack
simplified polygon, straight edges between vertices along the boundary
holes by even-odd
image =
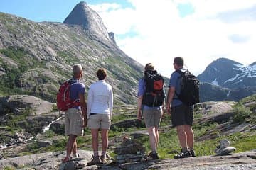
[[[151,94],[154,89],[149,89],[153,84],[149,84],[149,81],[146,81],[146,77],[160,77],[161,86],[159,92],[161,93],[158,100],[154,98]],[[148,84],[147,84],[148,83]],[[151,152],[149,157],[152,159],[159,159],[157,154],[157,145],[159,142],[159,125],[161,118],[164,117],[164,112],[162,108],[164,107],[164,79],[160,74],[154,69],[154,65],[151,63],[146,64],[144,67],[144,77],[139,79],[138,86],[138,111],[137,117],[139,120],[142,120],[142,115],[146,128],[149,132],[149,142],[151,147]],[[157,101],[154,103],[154,101]]]

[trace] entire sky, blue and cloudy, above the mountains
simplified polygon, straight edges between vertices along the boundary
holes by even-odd
[[[0,12],[32,21],[63,22],[77,0],[0,0]],[[256,62],[256,0],[88,0],[117,45],[166,77],[174,57],[201,74],[225,57],[244,65]]]

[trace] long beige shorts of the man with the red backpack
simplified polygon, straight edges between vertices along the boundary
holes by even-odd
[[[65,111],[65,135],[83,135],[82,111],[70,108]]]

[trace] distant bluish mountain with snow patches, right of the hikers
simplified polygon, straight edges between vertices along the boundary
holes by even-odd
[[[201,101],[239,101],[256,93],[256,62],[249,66],[219,58],[198,75]]]

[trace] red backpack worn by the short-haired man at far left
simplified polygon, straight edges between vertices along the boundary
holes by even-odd
[[[74,83],[78,84],[78,83]],[[67,111],[69,108],[73,106],[80,106],[79,99],[75,101],[70,98],[70,86],[72,86],[71,81],[64,81],[63,84],[60,85],[60,89],[57,94],[57,108],[60,111]]]

